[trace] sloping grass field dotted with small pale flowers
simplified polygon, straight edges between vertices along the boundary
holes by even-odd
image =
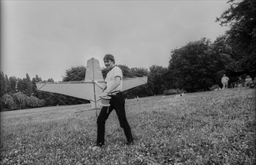
[[[255,164],[255,89],[126,100],[136,141],[113,111],[94,150],[89,104],[1,113],[1,164]],[[99,112],[98,112],[99,113]]]

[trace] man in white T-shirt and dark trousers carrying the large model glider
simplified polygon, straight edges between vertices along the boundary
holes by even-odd
[[[133,142],[133,135],[131,133],[130,125],[126,119],[126,113],[124,109],[125,100],[122,95],[123,88],[123,73],[120,68],[114,65],[114,56],[107,54],[103,58],[105,67],[108,68],[108,74],[105,79],[105,85],[102,86],[96,80],[93,80],[100,88],[103,89],[103,93],[100,95],[111,96],[109,102],[110,107],[102,107],[97,118],[97,141],[96,146],[101,147],[105,143],[105,121],[112,110],[115,110],[120,123],[120,127],[123,128],[126,136],[126,144],[130,145]]]

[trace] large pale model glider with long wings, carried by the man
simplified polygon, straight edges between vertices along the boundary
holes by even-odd
[[[102,89],[93,82],[97,80],[99,83],[104,83],[102,71],[99,66],[99,60],[90,58],[87,61],[87,70],[84,81],[76,82],[61,82],[61,83],[36,83],[39,91],[53,92],[62,95],[69,95],[75,98],[82,98],[90,101],[91,110],[100,109],[99,95]],[[123,91],[133,89],[136,86],[142,86],[147,83],[148,77],[136,77],[123,79]]]

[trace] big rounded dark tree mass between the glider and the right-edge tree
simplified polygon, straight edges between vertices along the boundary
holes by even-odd
[[[169,89],[184,89],[187,92],[208,90],[215,81],[218,71],[230,68],[232,58],[223,43],[211,44],[205,37],[191,41],[179,49],[173,49],[166,77]]]

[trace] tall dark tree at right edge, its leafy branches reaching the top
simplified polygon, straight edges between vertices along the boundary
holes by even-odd
[[[229,26],[227,43],[233,49],[239,71],[256,72],[256,1],[228,1],[230,8],[216,19],[221,26]]]

